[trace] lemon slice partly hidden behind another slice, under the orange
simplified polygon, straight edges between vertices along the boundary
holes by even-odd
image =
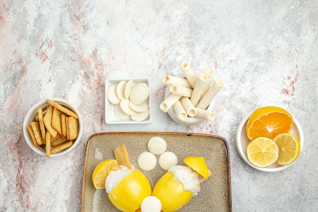
[[[277,164],[284,166],[296,161],[300,154],[300,142],[290,133],[281,133],[274,138],[279,148]]]

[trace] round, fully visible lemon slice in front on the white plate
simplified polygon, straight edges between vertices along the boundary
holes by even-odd
[[[276,162],[279,149],[272,139],[260,137],[247,145],[246,153],[249,162],[263,168]]]

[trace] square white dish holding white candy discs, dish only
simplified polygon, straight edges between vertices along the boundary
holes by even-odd
[[[147,99],[149,115],[145,120],[141,122],[136,122],[131,117],[121,119],[118,118],[114,113],[115,105],[110,103],[107,99],[107,89],[110,86],[118,85],[121,81],[129,81],[133,80],[134,84],[143,82],[146,83],[149,87],[149,97]],[[141,77],[141,78],[108,78],[105,82],[105,122],[106,124],[149,124],[152,121],[152,113],[151,113],[151,85],[150,85],[150,78],[149,77]]]

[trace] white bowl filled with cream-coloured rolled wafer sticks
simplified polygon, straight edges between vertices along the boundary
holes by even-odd
[[[224,81],[213,80],[212,69],[206,69],[199,75],[186,63],[182,63],[180,69],[183,75],[166,75],[163,78],[162,82],[168,86],[160,104],[161,110],[186,126],[214,120],[216,96]]]

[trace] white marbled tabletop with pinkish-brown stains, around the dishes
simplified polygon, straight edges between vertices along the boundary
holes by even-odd
[[[0,3],[0,210],[80,211],[86,141],[99,132],[187,132],[224,137],[233,211],[318,210],[318,1],[8,1]],[[198,126],[160,110],[166,74],[188,62],[225,80],[216,118]],[[151,124],[107,125],[105,79],[150,77]],[[27,110],[47,98],[78,107],[85,128],[68,155],[26,144]],[[304,148],[288,169],[250,168],[235,146],[242,117],[290,111]]]

